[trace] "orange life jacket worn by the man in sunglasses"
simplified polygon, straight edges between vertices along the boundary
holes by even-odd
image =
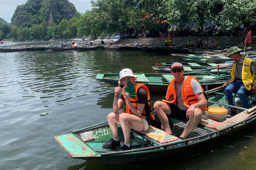
[[[193,105],[193,104],[198,102],[198,99],[193,94],[193,90],[192,90],[192,87],[191,87],[191,80],[192,79],[195,79],[199,83],[199,81],[195,77],[192,77],[191,75],[187,75],[187,77],[185,77],[185,79],[183,81],[183,86],[182,86],[182,90],[181,90],[181,95],[183,97],[182,98],[183,99],[183,103],[187,107],[190,107],[191,105]],[[166,100],[163,99],[162,101],[164,101],[166,103],[170,103],[170,104],[175,104],[176,103],[177,96],[175,94],[174,84],[175,84],[175,79],[173,79],[170,82],[169,87],[168,87],[168,91],[167,91],[167,95],[166,96],[169,96],[169,98],[166,99]],[[201,88],[202,88],[202,86],[201,86]],[[203,88],[202,88],[202,91],[204,91]],[[201,109],[205,110],[205,111],[208,110],[207,106],[204,106]]]

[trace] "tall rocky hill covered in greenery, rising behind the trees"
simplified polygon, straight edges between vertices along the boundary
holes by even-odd
[[[62,19],[70,20],[76,16],[74,4],[68,0],[28,0],[26,4],[17,6],[11,24],[17,27],[31,27],[47,21],[51,26],[59,24]]]

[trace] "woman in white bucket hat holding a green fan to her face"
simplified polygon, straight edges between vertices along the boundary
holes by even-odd
[[[118,83],[124,84],[124,86],[127,86],[129,81],[133,83],[138,78],[134,76],[130,69],[123,69],[120,71],[119,77],[120,79]],[[107,117],[110,129],[113,133],[113,139],[102,145],[105,149],[114,149],[121,146],[118,138],[117,123],[121,124],[124,133],[124,145],[121,150],[132,149],[130,145],[131,129],[145,133],[149,128],[150,112],[148,100],[150,96],[148,88],[144,84],[139,83],[135,83],[134,88],[137,96],[136,99],[130,98],[130,94],[128,92],[119,96],[119,92],[122,92],[120,84],[115,88],[113,101],[114,112],[111,112]],[[124,100],[126,102],[126,111],[118,113]]]

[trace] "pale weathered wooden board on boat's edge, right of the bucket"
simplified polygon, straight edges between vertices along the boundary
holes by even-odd
[[[256,111],[256,106],[249,108],[249,109],[229,118],[228,120],[218,124],[217,126],[215,126],[215,129],[220,130],[220,129],[226,128],[230,125],[233,125],[235,123],[241,122],[241,121],[245,120],[245,118],[251,116],[255,111]]]

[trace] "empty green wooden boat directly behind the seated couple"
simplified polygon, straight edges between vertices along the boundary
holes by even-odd
[[[174,78],[171,73],[137,73],[134,74],[138,77],[136,82],[146,84],[150,92],[166,92],[170,81]],[[221,86],[231,78],[230,72],[210,73],[210,72],[188,72],[184,75],[193,75],[201,83],[204,90],[207,88],[215,88]],[[97,74],[96,79],[118,86],[119,74],[106,73]]]

